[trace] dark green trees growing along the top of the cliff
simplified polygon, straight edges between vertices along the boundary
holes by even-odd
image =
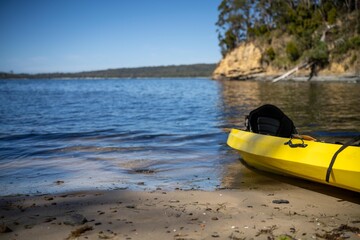
[[[323,37],[332,28],[331,40],[341,45],[338,54],[360,48],[360,0],[222,0],[218,10],[223,56],[242,42],[271,41],[276,32],[292,36],[286,46],[289,60],[296,61],[307,52],[310,58],[326,61]],[[266,54],[270,60],[276,57],[273,49]]]

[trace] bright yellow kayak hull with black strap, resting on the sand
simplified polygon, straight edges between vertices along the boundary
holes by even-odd
[[[227,144],[257,169],[360,192],[360,147],[238,129],[231,130]]]

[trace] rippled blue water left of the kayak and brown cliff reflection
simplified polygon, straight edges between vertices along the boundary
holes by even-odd
[[[225,149],[211,80],[0,82],[2,194],[218,184]],[[63,181],[58,184],[57,181]]]

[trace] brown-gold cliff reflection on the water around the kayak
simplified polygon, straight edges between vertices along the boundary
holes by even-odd
[[[346,141],[360,132],[360,84],[226,81],[222,82],[221,94],[227,131],[244,128],[245,116],[254,108],[269,103],[281,108],[302,134],[335,142]],[[235,151],[230,152],[234,154]],[[222,186],[261,186],[262,182],[272,182],[274,178],[249,171],[240,161],[228,164]],[[314,185],[306,181],[300,183],[305,187]]]

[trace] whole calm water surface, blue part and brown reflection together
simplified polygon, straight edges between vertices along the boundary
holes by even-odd
[[[253,108],[272,103],[302,133],[346,139],[360,132],[359,102],[350,83],[1,80],[0,195],[215,189],[240,164],[228,131]]]

